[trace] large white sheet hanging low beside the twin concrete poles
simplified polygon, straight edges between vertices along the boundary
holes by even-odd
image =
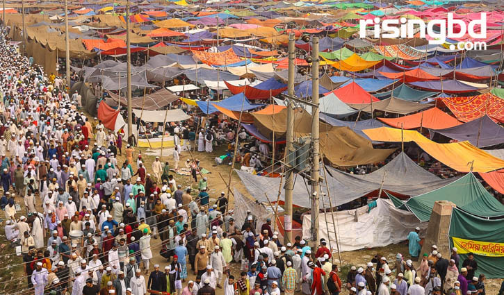
[[[357,214],[356,214],[357,213]],[[416,226],[421,228],[421,234],[427,230],[428,222],[420,223],[418,219],[405,210],[397,209],[386,199],[377,199],[376,208],[368,212],[368,206],[355,210],[334,212],[336,235],[338,235],[340,250],[354,251],[361,248],[383,247],[396,244],[406,239],[408,233]],[[324,214],[318,216],[318,235],[329,241],[336,249],[334,241],[334,225],[331,213],[327,213],[327,226]],[[304,239],[310,237],[311,216],[303,215],[302,233]]]

